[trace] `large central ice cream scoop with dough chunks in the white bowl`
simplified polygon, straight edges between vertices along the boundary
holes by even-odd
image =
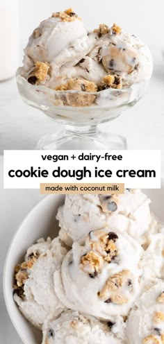
[[[126,233],[92,231],[83,245],[73,244],[54,274],[56,294],[67,308],[92,316],[126,316],[140,291],[141,255]]]

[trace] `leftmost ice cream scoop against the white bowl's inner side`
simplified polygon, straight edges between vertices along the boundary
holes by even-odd
[[[15,267],[14,299],[25,318],[38,329],[44,319],[63,311],[63,304],[54,291],[54,272],[66,254],[58,238],[41,239],[28,248],[25,260]]]

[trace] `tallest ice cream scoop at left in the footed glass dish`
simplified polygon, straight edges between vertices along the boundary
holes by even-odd
[[[56,12],[33,31],[24,49],[24,66],[19,73],[29,83],[54,88],[61,80],[67,80],[67,73],[64,75],[60,68],[66,65],[69,71],[68,66],[76,65],[90,51],[91,40],[83,22],[72,9]],[[49,66],[42,80],[31,79],[38,62]]]

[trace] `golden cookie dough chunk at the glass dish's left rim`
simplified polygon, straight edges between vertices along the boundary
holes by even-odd
[[[39,85],[46,80],[49,72],[49,65],[47,62],[36,62],[33,71],[28,75],[28,83],[31,85]]]

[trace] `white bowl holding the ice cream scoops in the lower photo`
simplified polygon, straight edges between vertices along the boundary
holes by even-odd
[[[161,189],[145,190],[145,193],[151,198],[151,210],[164,222],[164,180]],[[3,293],[10,318],[24,344],[40,344],[42,334],[25,320],[13,300],[13,270],[23,259],[26,249],[35,241],[41,237],[46,239],[47,236],[58,235],[56,212],[63,201],[64,196],[51,195],[38,203],[24,219],[8,249],[3,271]]]

